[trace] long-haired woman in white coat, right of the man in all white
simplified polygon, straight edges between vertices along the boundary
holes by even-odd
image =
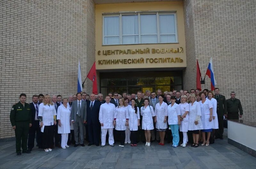
[[[116,107],[114,114],[114,125],[116,126],[117,134],[120,136],[119,147],[124,147],[125,130],[128,126],[129,113],[124,105],[124,99],[118,99],[119,105]]]

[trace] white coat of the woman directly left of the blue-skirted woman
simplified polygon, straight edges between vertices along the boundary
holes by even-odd
[[[200,116],[198,118],[198,124],[195,124],[196,117]],[[203,124],[201,121],[201,107],[200,103],[195,101],[194,104],[189,103],[189,117],[188,117],[188,130],[202,130]]]

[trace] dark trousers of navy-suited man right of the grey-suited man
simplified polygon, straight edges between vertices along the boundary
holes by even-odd
[[[88,128],[88,141],[91,144],[100,143],[100,123],[95,122],[87,125]]]

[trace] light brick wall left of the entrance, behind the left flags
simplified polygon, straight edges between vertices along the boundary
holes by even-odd
[[[19,94],[61,94],[77,90],[94,62],[95,6],[92,0],[0,2],[0,138],[14,136],[9,119]],[[86,80],[85,92],[92,91]]]

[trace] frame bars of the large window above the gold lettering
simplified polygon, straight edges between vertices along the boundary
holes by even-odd
[[[129,35],[123,35],[122,32],[122,16],[125,15],[138,15],[138,33],[139,34],[132,34],[132,35],[139,35],[139,43],[123,43],[123,36],[129,36]],[[156,29],[157,33],[154,35],[157,35],[157,42],[156,43],[141,43],[141,35],[153,35],[153,34],[141,34],[140,29],[140,16],[141,15],[156,15]],[[173,15],[174,16],[174,29],[175,33],[160,33],[160,19],[159,16],[161,15]],[[116,44],[105,44],[105,37],[112,37],[112,36],[105,36],[104,34],[104,18],[105,17],[119,17],[119,43]],[[160,36],[161,35],[175,35],[175,42],[161,42]],[[118,37],[118,36],[115,36]],[[102,15],[102,45],[108,46],[108,45],[132,45],[132,44],[158,44],[158,43],[179,43],[178,42],[178,26],[177,26],[177,14],[176,12],[134,12],[134,13],[119,13],[119,14],[104,14]]]

